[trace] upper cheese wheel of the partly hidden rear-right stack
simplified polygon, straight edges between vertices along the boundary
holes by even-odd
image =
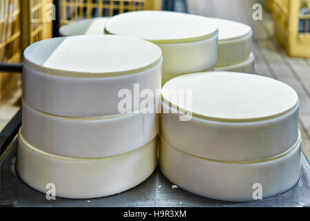
[[[252,28],[244,23],[213,18],[218,23],[218,66],[245,61],[251,54]]]

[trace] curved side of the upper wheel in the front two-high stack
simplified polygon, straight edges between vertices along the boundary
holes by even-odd
[[[166,104],[163,104],[167,108]],[[161,115],[161,136],[181,151],[214,160],[262,160],[287,151],[298,137],[298,106],[257,122],[216,122],[183,114]]]

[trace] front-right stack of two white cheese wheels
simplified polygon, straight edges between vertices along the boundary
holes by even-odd
[[[208,72],[176,77],[162,90],[159,164],[172,183],[207,198],[250,201],[298,182],[293,88],[258,75]]]

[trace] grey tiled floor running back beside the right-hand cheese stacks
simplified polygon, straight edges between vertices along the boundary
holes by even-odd
[[[254,21],[254,3],[263,0],[188,0],[189,13],[247,23],[253,28],[255,69],[293,87],[300,97],[302,150],[310,160],[310,59],[288,57],[273,35],[273,18],[263,8],[262,21]]]

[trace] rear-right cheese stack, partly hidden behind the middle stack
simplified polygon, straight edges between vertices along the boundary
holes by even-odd
[[[254,72],[254,54],[251,52],[250,26],[225,19],[218,23],[218,61],[215,70],[242,73]]]

